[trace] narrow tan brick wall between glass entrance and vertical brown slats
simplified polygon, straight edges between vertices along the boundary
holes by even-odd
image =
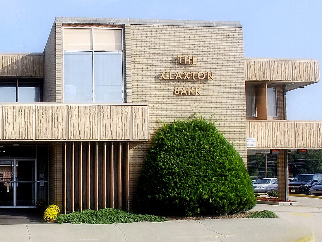
[[[62,142],[49,145],[49,204],[56,204],[62,211]]]

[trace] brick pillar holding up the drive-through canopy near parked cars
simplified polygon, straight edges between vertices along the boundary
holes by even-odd
[[[286,202],[289,200],[289,166],[288,154],[286,149],[281,149],[277,155],[277,178],[279,201]]]

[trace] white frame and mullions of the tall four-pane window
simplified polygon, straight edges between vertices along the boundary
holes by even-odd
[[[73,50],[73,49],[68,49],[65,50],[64,49],[64,29],[91,29],[91,50]],[[110,51],[110,50],[99,50],[99,51],[94,51],[94,29],[119,29],[121,30],[121,38],[122,38],[122,50],[114,50],[114,51]],[[86,52],[91,52],[92,53],[92,102],[91,103],[95,103],[94,102],[94,97],[95,97],[95,65],[94,65],[94,52],[121,52],[122,53],[122,90],[123,90],[123,95],[122,95],[122,103],[125,103],[125,66],[124,66],[124,28],[122,27],[115,27],[115,28],[111,28],[111,27],[70,27],[70,26],[63,26],[62,28],[62,100],[63,102],[65,102],[65,80],[64,80],[64,53],[65,51],[86,51]]]

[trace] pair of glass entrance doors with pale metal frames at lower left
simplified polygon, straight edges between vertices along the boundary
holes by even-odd
[[[35,207],[35,159],[0,160],[0,207]]]

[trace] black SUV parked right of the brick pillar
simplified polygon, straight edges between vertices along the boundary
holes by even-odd
[[[308,193],[313,185],[322,180],[322,174],[300,174],[289,182],[289,193]]]

